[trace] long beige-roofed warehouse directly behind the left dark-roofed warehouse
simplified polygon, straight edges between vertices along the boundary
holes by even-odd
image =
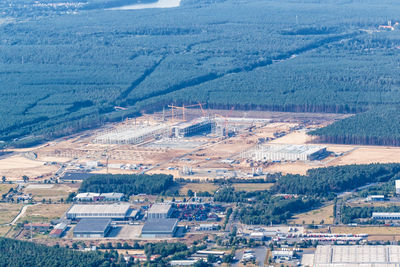
[[[131,214],[129,204],[108,205],[73,205],[67,211],[70,220],[85,218],[110,218],[117,220],[128,219]]]

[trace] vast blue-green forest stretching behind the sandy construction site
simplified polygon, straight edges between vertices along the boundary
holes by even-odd
[[[400,126],[389,121],[400,112],[379,107],[400,102],[400,30],[378,30],[399,20],[398,2],[183,0],[162,11],[107,9],[120,3],[0,2],[0,145],[34,145],[199,101],[356,113],[315,134],[398,145]]]

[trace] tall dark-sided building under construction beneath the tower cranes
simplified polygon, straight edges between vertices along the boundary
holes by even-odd
[[[172,136],[182,138],[201,133],[211,133],[214,125],[215,122],[208,118],[200,118],[199,120],[183,122],[172,128]]]

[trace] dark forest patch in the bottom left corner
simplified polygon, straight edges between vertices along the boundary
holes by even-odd
[[[79,252],[62,247],[48,247],[32,242],[0,238],[0,266],[25,267],[106,267],[118,259],[100,252]]]

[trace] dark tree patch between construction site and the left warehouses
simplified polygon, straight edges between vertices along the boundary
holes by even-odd
[[[166,174],[98,174],[85,179],[79,192],[133,194],[167,194],[173,187],[172,175]]]

